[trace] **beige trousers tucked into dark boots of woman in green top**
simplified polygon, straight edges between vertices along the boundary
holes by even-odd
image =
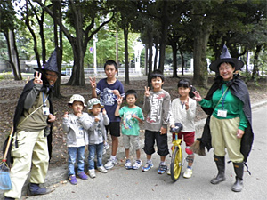
[[[210,131],[214,155],[225,156],[227,148],[228,156],[233,163],[241,163],[244,156],[240,153],[241,139],[237,137],[239,117],[232,119],[217,119],[211,116]]]

